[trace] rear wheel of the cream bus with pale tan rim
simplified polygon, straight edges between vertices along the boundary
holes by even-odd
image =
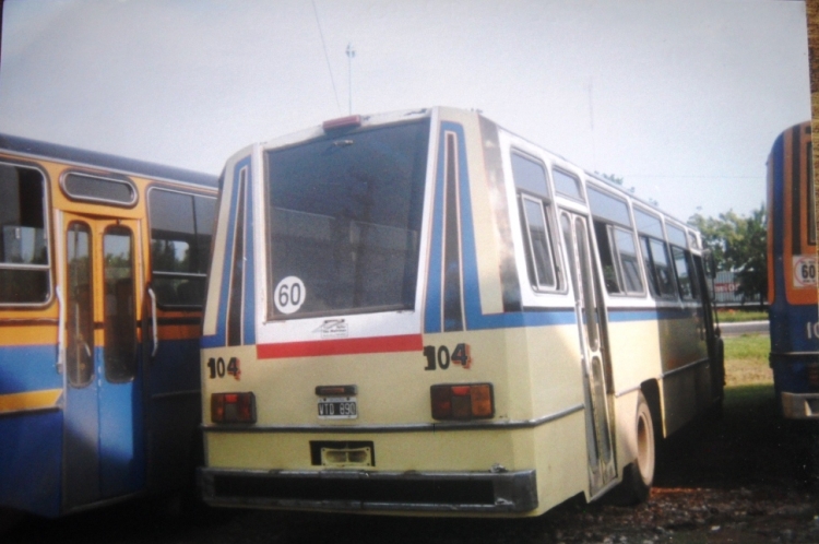
[[[637,459],[622,471],[622,481],[610,493],[612,502],[616,505],[639,505],[645,502],[654,482],[656,450],[654,442],[654,424],[649,403],[640,392],[637,399],[634,415],[637,434]]]

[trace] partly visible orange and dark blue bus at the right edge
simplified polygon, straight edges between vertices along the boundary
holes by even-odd
[[[768,158],[771,368],[781,414],[819,418],[819,312],[810,122],[775,140]]]

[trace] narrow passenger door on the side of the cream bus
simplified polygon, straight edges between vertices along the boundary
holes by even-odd
[[[609,482],[617,470],[614,459],[609,378],[606,360],[605,311],[601,286],[594,269],[594,257],[589,241],[586,218],[561,212],[560,228],[563,235],[569,275],[574,292],[574,308],[578,319],[580,347],[583,356],[583,391],[586,405],[586,444],[591,494],[596,495]]]

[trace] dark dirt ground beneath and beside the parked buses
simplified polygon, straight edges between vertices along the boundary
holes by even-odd
[[[20,520],[0,541],[105,543],[819,542],[814,430],[775,414],[771,386],[728,391],[723,416],[665,444],[650,500],[570,500],[525,520],[213,511],[168,518],[129,502],[64,520]]]

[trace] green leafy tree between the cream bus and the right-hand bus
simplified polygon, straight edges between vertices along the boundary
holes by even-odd
[[[760,300],[768,295],[765,218],[762,204],[748,217],[729,210],[716,218],[697,213],[688,220],[713,252],[716,270],[735,272],[739,280],[737,293],[747,297],[760,295]]]

